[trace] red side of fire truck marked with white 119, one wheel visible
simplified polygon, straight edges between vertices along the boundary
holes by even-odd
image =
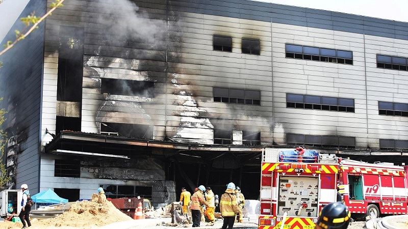
[[[408,166],[342,160],[339,188],[352,214],[377,218],[380,214],[407,214]]]

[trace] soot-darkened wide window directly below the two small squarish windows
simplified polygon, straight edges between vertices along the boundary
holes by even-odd
[[[261,92],[243,89],[213,88],[214,102],[261,105]]]

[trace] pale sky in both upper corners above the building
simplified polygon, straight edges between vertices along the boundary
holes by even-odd
[[[319,10],[357,14],[369,17],[384,18],[408,22],[408,0],[253,0],[300,6]],[[29,0],[4,0],[0,4],[0,41],[3,40],[11,26],[17,20]]]

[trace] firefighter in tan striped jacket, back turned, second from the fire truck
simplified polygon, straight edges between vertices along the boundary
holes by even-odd
[[[235,215],[239,213],[237,196],[235,195],[235,184],[230,183],[226,186],[224,194],[221,195],[220,210],[224,218],[222,229],[232,229],[234,226]]]

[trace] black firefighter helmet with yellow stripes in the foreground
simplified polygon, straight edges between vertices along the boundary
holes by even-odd
[[[346,229],[351,213],[342,202],[326,205],[319,213],[316,229]]]

